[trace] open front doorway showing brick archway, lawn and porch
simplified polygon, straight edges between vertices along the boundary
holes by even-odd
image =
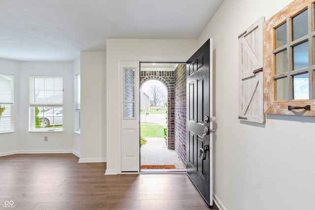
[[[186,63],[140,62],[140,171],[186,171]]]

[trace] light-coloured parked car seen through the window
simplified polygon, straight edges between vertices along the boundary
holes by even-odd
[[[53,108],[46,112],[40,112],[37,117],[39,117],[41,127],[63,125],[63,108]]]

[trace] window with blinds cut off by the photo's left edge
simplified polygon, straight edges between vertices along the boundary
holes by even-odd
[[[14,131],[13,105],[13,75],[0,74],[0,133]]]

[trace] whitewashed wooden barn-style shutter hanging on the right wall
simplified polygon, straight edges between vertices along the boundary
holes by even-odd
[[[239,119],[265,122],[263,111],[263,23],[261,17],[239,35]]]

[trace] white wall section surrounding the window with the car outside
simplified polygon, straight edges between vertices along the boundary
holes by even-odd
[[[29,76],[63,76],[63,132],[29,132]],[[73,62],[19,62],[18,152],[72,152]],[[1,134],[2,135],[2,134]],[[44,141],[44,136],[48,141]]]

